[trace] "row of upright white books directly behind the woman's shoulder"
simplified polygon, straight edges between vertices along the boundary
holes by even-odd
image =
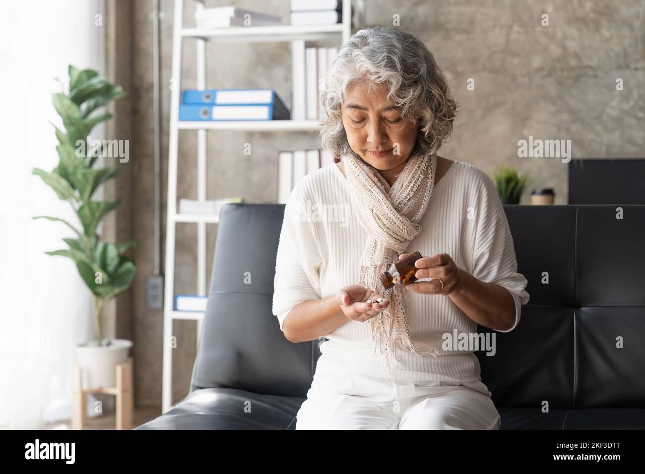
[[[278,153],[278,197],[279,204],[286,204],[295,185],[309,173],[323,166],[339,163],[327,150],[296,150]]]

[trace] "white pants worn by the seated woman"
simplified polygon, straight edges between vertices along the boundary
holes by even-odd
[[[314,375],[296,430],[499,430],[482,382],[388,382],[355,373]]]

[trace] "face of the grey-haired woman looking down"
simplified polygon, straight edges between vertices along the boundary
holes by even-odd
[[[401,117],[401,111],[386,101],[384,84],[348,89],[341,104],[342,124],[352,150],[379,171],[401,172],[417,140],[417,127]],[[372,153],[372,152],[385,153]],[[390,179],[388,179],[390,181]]]

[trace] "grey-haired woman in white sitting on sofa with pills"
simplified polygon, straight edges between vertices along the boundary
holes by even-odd
[[[321,106],[341,163],[293,189],[275,267],[284,336],[327,339],[295,428],[499,429],[478,348],[444,341],[473,339],[477,324],[513,330],[527,281],[492,181],[437,156],[455,117],[444,75],[413,35],[364,29],[339,50]],[[350,210],[346,222],[306,213],[329,208]],[[413,252],[419,281],[384,288],[379,275]]]

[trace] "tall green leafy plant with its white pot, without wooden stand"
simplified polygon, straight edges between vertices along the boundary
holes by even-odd
[[[112,115],[97,112],[101,107],[126,95],[119,84],[113,84],[92,69],[79,70],[69,66],[68,90],[52,94],[52,103],[62,119],[64,132],[54,125],[59,144],[58,166],[51,172],[34,168],[32,173],[43,179],[59,199],[70,203],[80,226],[59,217],[38,215],[32,219],[48,219],[66,224],[74,234],[63,239],[68,248],[45,252],[72,259],[81,279],[94,297],[95,339],[77,344],[75,351],[83,369],[83,388],[115,386],[117,364],[128,361],[132,341],[104,339],[101,328],[101,310],[110,300],[127,290],[134,279],[134,261],[124,255],[130,247],[137,247],[137,239],[119,243],[103,242],[97,227],[108,213],[115,210],[121,199],[93,199],[94,193],[106,181],[113,179],[117,170],[95,167],[103,148],[90,149],[90,132],[95,125],[109,120]]]

